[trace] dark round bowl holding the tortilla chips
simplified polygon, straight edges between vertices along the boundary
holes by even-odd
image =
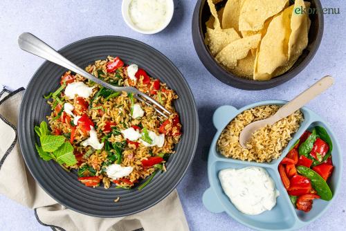
[[[234,86],[237,89],[244,90],[263,90],[270,89],[291,80],[293,77],[298,75],[307,64],[311,61],[313,56],[316,54],[323,35],[323,13],[322,6],[319,0],[308,0],[311,2],[311,8],[316,8],[316,14],[310,15],[311,27],[309,30],[309,44],[299,57],[297,62],[287,71],[286,73],[274,77],[268,81],[256,81],[246,80],[241,77],[237,77],[233,73],[230,73],[221,65],[219,65],[214,57],[210,54],[210,51],[206,44],[204,44],[204,34],[206,33],[206,21],[210,17],[210,10],[206,0],[197,1],[196,7],[194,8],[194,14],[192,16],[192,39],[194,42],[194,48],[196,49],[197,55],[208,71],[217,77],[218,80]],[[222,6],[225,1],[222,1],[217,6]]]

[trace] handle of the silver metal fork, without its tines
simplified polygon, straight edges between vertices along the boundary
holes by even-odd
[[[51,48],[51,46],[49,46],[44,41],[37,38],[35,35],[31,33],[22,33],[21,35],[19,35],[18,44],[22,50],[25,50],[28,53],[32,53],[33,55],[37,55],[55,64],[63,66],[64,68],[78,73],[83,77],[86,77],[88,80],[100,84],[106,87],[107,89],[113,89],[114,91],[124,91],[124,89],[120,87],[113,86],[111,84],[108,84],[107,82],[103,82],[102,80],[98,79],[97,77],[94,77],[90,73],[87,73],[82,68],[73,64],[73,62],[69,61],[69,59],[66,59],[64,56],[60,55],[60,53],[57,53],[57,51]]]

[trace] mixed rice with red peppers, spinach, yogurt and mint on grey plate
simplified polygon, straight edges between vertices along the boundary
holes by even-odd
[[[35,128],[41,142],[39,156],[56,160],[67,170],[76,169],[78,180],[89,187],[103,183],[109,188],[114,183],[131,188],[150,176],[144,187],[157,171],[166,171],[167,158],[181,138],[181,123],[173,106],[178,95],[119,57],[97,60],[85,71],[114,86],[136,87],[172,115],[165,118],[131,93],[105,89],[68,71],[60,89],[45,97],[52,112],[47,116],[49,129],[45,122]],[[53,140],[56,147],[46,140]]]

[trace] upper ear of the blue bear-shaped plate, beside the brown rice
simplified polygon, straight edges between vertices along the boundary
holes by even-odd
[[[221,106],[216,109],[214,115],[212,115],[212,122],[217,130],[224,129],[230,120],[235,118],[238,113],[238,109],[233,106]]]

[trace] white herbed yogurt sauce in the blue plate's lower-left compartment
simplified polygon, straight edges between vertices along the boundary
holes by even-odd
[[[262,167],[224,169],[219,172],[221,186],[237,209],[249,215],[271,210],[279,192]]]

